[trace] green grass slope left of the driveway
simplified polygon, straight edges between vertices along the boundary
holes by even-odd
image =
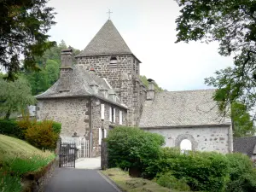
[[[38,173],[55,154],[34,148],[20,139],[0,135],[0,191],[20,192],[27,173]]]

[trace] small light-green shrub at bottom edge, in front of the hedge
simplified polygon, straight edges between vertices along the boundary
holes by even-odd
[[[189,185],[186,183],[185,178],[177,179],[172,175],[172,172],[166,172],[164,174],[159,174],[156,178],[156,183],[160,186],[177,189],[179,191],[190,191]]]

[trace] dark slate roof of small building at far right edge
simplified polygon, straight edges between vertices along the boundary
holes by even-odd
[[[256,154],[256,137],[234,138],[233,146],[234,152],[240,152],[252,157],[253,154]]]

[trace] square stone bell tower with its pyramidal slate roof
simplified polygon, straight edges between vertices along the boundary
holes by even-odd
[[[131,52],[112,20],[107,20],[76,60],[108,80],[128,107],[128,125],[137,126],[146,96],[140,80],[141,61]]]

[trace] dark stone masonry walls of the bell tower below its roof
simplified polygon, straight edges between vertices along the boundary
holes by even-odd
[[[137,125],[145,98],[145,90],[140,86],[139,80],[140,64],[133,55],[113,56],[117,59],[116,67],[110,64],[111,55],[79,57],[77,63],[85,65],[88,71],[94,68],[98,76],[108,80],[121,101],[129,108],[128,125]]]

